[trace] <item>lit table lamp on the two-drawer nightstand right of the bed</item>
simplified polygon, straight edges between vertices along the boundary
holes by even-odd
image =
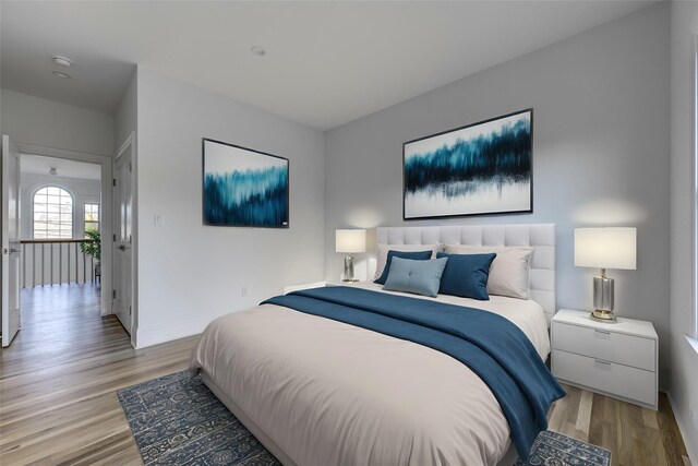
[[[636,268],[637,228],[575,228],[575,265],[598,267],[601,274],[593,277],[593,307],[591,319],[612,323],[613,278],[606,268]]]

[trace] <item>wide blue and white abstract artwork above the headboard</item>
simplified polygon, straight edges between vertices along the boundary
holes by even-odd
[[[405,219],[532,212],[533,110],[406,142]]]

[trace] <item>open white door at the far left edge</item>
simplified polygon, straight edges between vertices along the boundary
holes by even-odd
[[[20,330],[20,151],[2,135],[2,346]]]

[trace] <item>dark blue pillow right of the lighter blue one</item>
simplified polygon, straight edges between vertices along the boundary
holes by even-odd
[[[441,277],[438,292],[486,301],[490,266],[497,254],[446,254],[440,252],[436,258],[447,258],[448,263]]]

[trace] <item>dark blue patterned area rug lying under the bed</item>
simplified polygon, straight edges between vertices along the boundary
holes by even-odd
[[[280,466],[200,377],[181,371],[117,392],[145,465]],[[609,466],[611,452],[544,431],[530,462],[514,466]]]

